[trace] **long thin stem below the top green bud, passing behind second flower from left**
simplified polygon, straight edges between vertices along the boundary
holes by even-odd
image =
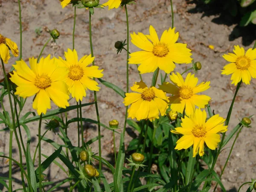
[[[91,13],[89,12],[89,32],[90,32],[90,50],[91,55],[93,57],[93,41],[92,41],[92,25],[91,25]],[[93,61],[94,66],[94,61]],[[93,80],[95,81],[95,77],[93,77]],[[95,102],[95,109],[96,109],[96,115],[97,115],[97,122],[98,122],[98,138],[99,138],[99,157],[102,157],[102,151],[101,151],[101,130],[100,130],[100,119],[99,119],[99,108],[98,108],[98,102],[97,102],[97,93],[94,91],[94,102]],[[99,159],[99,170],[102,169],[102,160]]]

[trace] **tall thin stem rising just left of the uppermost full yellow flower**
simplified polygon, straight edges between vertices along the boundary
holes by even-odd
[[[128,10],[127,6],[125,4],[125,15],[126,15],[126,26],[127,26],[127,61],[126,61],[126,93],[129,93],[129,65],[128,65],[128,59],[129,59],[129,19],[128,19]],[[128,106],[125,108],[125,122],[124,122],[124,129],[123,129],[123,136],[125,137],[125,129],[126,129],[126,122],[127,122],[127,116],[128,116]]]

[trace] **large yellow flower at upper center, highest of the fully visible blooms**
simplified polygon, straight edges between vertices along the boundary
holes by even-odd
[[[131,34],[131,42],[143,51],[131,53],[129,64],[140,64],[140,73],[154,72],[157,67],[171,73],[176,67],[174,63],[191,63],[191,50],[186,44],[176,43],[179,33],[175,33],[175,28],[165,30],[160,41],[153,26],[149,27],[149,34]]]

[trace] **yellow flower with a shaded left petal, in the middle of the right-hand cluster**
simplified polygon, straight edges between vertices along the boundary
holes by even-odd
[[[174,84],[164,82],[163,85],[159,85],[160,89],[166,93],[171,93],[173,96],[169,98],[169,103],[171,104],[172,111],[177,111],[183,113],[185,112],[187,116],[190,116],[195,111],[195,106],[199,108],[205,108],[211,99],[206,95],[197,95],[197,93],[209,89],[210,81],[202,82],[198,84],[198,78],[195,75],[189,73],[186,76],[185,81],[180,73],[172,73],[170,76],[171,81]]]

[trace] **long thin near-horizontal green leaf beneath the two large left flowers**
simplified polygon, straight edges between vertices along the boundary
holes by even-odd
[[[89,106],[89,105],[93,105],[94,103],[84,103],[82,104],[81,106],[82,107],[85,107],[85,106]],[[64,113],[64,112],[67,112],[67,111],[72,111],[74,109],[77,109],[77,105],[72,105],[72,106],[69,106],[67,108],[58,108],[58,109],[55,109],[55,110],[52,110],[52,111],[48,111],[45,115],[43,114],[42,115],[42,119],[51,119],[53,115],[57,115],[57,114],[60,114],[60,113]],[[33,122],[33,121],[38,121],[40,119],[40,116],[37,115],[37,116],[33,116],[33,117],[30,117],[26,120],[24,120],[24,124],[28,123],[28,122]]]

